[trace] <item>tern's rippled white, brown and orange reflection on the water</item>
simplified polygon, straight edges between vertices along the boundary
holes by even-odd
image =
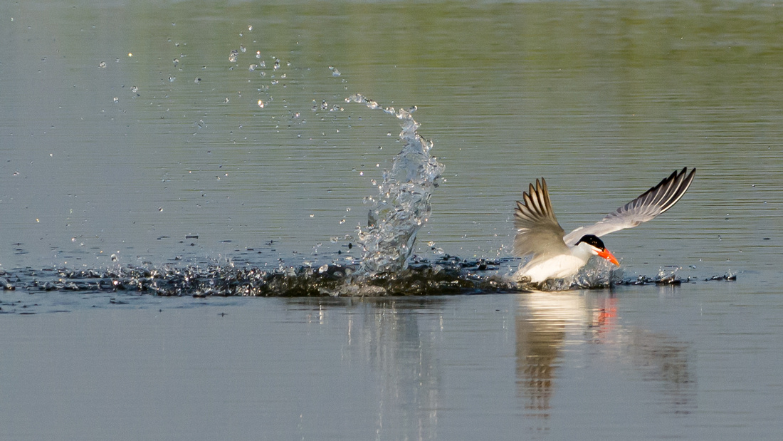
[[[566,350],[616,360],[618,371],[651,381],[666,410],[687,414],[695,407],[694,351],[662,333],[620,324],[619,299],[596,291],[531,292],[520,295],[516,318],[516,374],[524,414],[546,430],[557,370]],[[598,345],[598,346],[596,346]],[[581,349],[580,349],[581,348]],[[597,348],[597,350],[596,350]],[[638,378],[639,374],[636,375]]]

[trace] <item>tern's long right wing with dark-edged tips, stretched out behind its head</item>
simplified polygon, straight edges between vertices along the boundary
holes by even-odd
[[[642,222],[654,219],[655,216],[672,208],[685,190],[691,186],[696,169],[687,172],[684,167],[680,172],[673,172],[668,178],[663,179],[658,185],[645,191],[639,197],[628,204],[612,211],[601,221],[590,226],[580,226],[568,233],[564,240],[566,244],[573,245],[585,234],[595,234],[598,237],[626,228],[633,228]]]

